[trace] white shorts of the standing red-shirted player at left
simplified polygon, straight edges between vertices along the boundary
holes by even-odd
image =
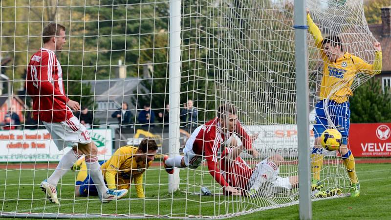
[[[91,143],[86,127],[75,116],[61,122],[47,123],[43,121],[43,125],[59,150],[63,150],[65,147],[77,147],[79,143]]]

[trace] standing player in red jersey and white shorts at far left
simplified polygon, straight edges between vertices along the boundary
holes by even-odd
[[[98,163],[98,149],[91,141],[86,127],[72,114],[80,110],[78,102],[65,95],[63,72],[55,52],[61,52],[65,44],[65,26],[49,23],[43,28],[43,47],[32,57],[27,68],[26,89],[33,99],[33,116],[42,120],[59,150],[72,147],[60,160],[53,174],[41,182],[47,198],[57,199],[58,181],[71,169],[78,157],[86,155],[87,169],[96,183],[102,202],[120,199],[127,190],[109,190],[103,180]]]

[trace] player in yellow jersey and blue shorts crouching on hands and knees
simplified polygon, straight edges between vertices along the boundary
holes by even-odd
[[[143,173],[151,166],[156,151],[155,140],[144,139],[138,147],[120,147],[109,160],[100,162],[102,174],[109,190],[129,190],[130,184],[134,180],[137,197],[144,198]],[[72,169],[79,169],[79,167],[75,195],[82,197],[98,195],[94,183],[87,175],[84,160],[78,160]]]

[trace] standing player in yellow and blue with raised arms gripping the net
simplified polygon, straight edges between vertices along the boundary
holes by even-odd
[[[316,120],[314,122],[315,144],[311,152],[311,171],[313,174],[311,188],[319,190],[320,171],[323,163],[323,148],[320,142],[322,133],[333,123],[342,134],[340,154],[351,181],[350,196],[360,195],[360,184],[355,172],[354,157],[348,149],[350,126],[350,110],[348,98],[353,95],[351,85],[357,73],[369,75],[379,74],[382,68],[382,52],[379,42],[374,42],[375,61],[369,64],[359,57],[344,51],[338,36],[322,37],[318,26],[307,12],[309,32],[315,39],[315,44],[321,51],[324,62],[323,77],[320,87],[320,101],[315,106]],[[327,114],[329,117],[327,117]]]

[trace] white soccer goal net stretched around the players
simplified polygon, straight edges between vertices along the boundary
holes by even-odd
[[[179,106],[169,105],[170,86],[174,86],[169,84],[169,0],[0,3],[2,217],[224,218],[298,203],[296,106],[301,103],[296,102],[293,1],[181,0]],[[339,36],[344,52],[375,64],[375,39],[369,32],[362,1],[311,0],[307,5],[323,37]],[[102,203],[93,194],[92,185],[85,181],[87,174],[81,174],[87,172],[83,158],[72,167],[63,166],[68,172],[52,184],[59,204],[51,203],[46,198],[48,192],[42,192],[40,187],[71,149],[60,151],[54,141],[69,136],[54,136],[53,130],[47,130],[47,118],[56,118],[58,113],[37,110],[37,106],[39,109],[49,103],[38,101],[34,107],[32,95],[26,90],[26,79],[35,79],[36,73],[34,69],[27,72],[28,63],[40,63],[41,57],[33,55],[50,49],[43,44],[43,29],[50,22],[64,25],[66,43],[57,48],[61,39],[55,38],[55,53],[49,62],[52,59],[56,64],[46,66],[48,81],[53,91],[56,83],[64,82],[62,94],[80,103],[81,110],[73,115],[87,128],[102,169],[114,167],[117,187],[121,183],[129,189],[121,200]],[[327,95],[321,94],[325,89],[323,50],[317,48],[311,34],[307,37],[310,110],[320,100],[327,100],[324,108],[328,109],[328,100],[344,89],[349,91],[344,90],[339,98],[348,100],[354,88],[373,76],[370,69],[361,68],[344,79],[343,70],[330,67],[334,69],[329,71],[342,80],[328,88]],[[349,61],[348,65],[354,63]],[[236,134],[230,138],[229,132],[218,127],[223,122],[220,121],[215,128],[222,132],[212,144],[216,147],[217,142],[221,143],[221,147],[213,149],[214,167],[202,160],[197,168],[175,169],[179,172],[178,190],[170,192],[169,174],[163,164],[163,156],[170,149],[170,109],[179,108],[180,129],[174,132],[180,147],[170,154],[174,157],[186,152],[186,142],[199,132],[197,127],[216,118],[219,106],[227,103],[235,106],[248,138],[258,134],[251,141],[256,152],[243,150],[240,158],[225,162],[223,169],[221,158],[246,140],[236,125]],[[52,105],[51,109],[56,109]],[[325,111],[327,128],[341,127],[334,120],[335,114]],[[38,120],[34,115],[39,115]],[[349,120],[346,116],[345,119]],[[313,146],[311,116],[308,122]],[[224,123],[229,124],[229,119]],[[82,125],[62,126],[63,134],[68,135],[66,129],[78,130]],[[158,146],[147,167],[140,165],[147,159],[136,156],[143,139],[155,140]],[[129,145],[136,150],[123,153],[127,158],[120,160],[121,147]],[[338,188],[342,194],[348,193],[351,181],[341,154],[324,150],[323,155],[319,180],[324,190]],[[111,166],[110,159],[118,161],[118,167]],[[256,181],[259,187],[249,193],[251,175],[236,173],[243,167],[251,174],[270,176]],[[216,172],[212,174],[211,169]],[[109,171],[102,174],[104,178],[106,172]],[[228,185],[237,184],[241,195],[227,193],[227,187],[223,189],[211,174],[221,174]]]

